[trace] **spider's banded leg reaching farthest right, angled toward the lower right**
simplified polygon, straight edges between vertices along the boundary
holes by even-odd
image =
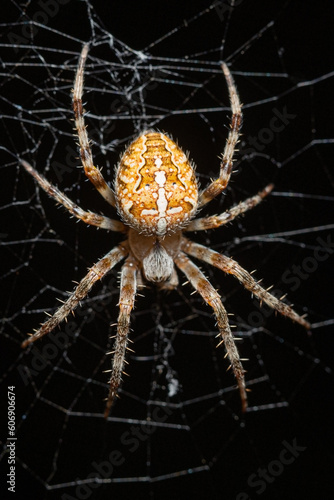
[[[283,316],[287,316],[292,321],[296,321],[304,328],[309,330],[311,325],[302,316],[299,316],[290,306],[277,299],[274,295],[267,292],[262,286],[255,281],[255,279],[243,269],[235,260],[230,257],[226,257],[210,248],[207,248],[198,243],[182,239],[181,248],[184,252],[195,257],[199,260],[203,260],[208,264],[211,264],[218,269],[221,269],[227,274],[232,274],[235,276],[240,283],[250,292],[252,292],[260,301],[265,302],[272,309],[275,309]]]

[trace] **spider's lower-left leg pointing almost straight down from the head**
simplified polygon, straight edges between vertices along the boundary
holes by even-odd
[[[117,322],[117,335],[114,345],[113,365],[110,377],[110,388],[104,417],[107,418],[113,401],[117,395],[121,383],[125,363],[125,352],[127,349],[128,335],[130,330],[130,313],[134,306],[137,283],[137,266],[133,257],[128,257],[121,272],[121,291],[119,299],[119,316]]]

